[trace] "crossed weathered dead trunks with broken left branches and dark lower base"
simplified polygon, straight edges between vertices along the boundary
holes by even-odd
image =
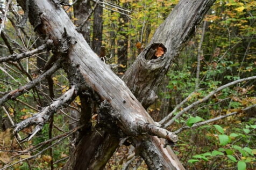
[[[176,142],[177,136],[159,127],[145,108],[157,98],[155,90],[163,75],[214,0],[180,1],[157,29],[150,44],[126,71],[124,82],[108,65],[99,60],[58,2],[19,0],[18,3],[28,13],[30,23],[41,38],[53,43],[55,60],[48,63],[50,70],[55,71],[58,68],[54,63],[61,63],[72,88],[30,120],[17,124],[14,132],[34,124],[36,126],[30,139],[56,109],[69,104],[76,95],[90,96],[100,103],[98,124],[105,127],[99,127],[103,135],[96,135],[95,131],[84,135],[77,146],[75,157],[66,166],[67,169],[101,169],[119,143],[123,144],[126,139],[136,147],[137,153],[144,158],[150,169],[184,169],[170,147],[165,147],[168,143]],[[35,82],[43,79],[40,78],[35,79]],[[17,91],[6,94],[4,100],[15,99],[31,88],[20,87]],[[117,130],[117,134],[111,134],[110,129]],[[88,160],[84,164],[78,164],[81,163],[79,160],[84,159],[81,157],[83,155],[88,156]],[[99,162],[97,158],[104,159]]]

